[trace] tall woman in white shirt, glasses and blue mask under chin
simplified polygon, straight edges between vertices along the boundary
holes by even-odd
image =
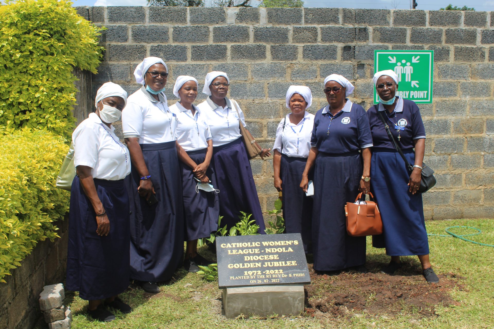
[[[176,114],[163,93],[165,62],[148,57],[134,71],[142,87],[128,98],[122,116],[132,174],[126,180],[130,199],[130,278],[146,292],[160,292],[182,263],[182,182],[178,160],[193,165],[176,143]]]

